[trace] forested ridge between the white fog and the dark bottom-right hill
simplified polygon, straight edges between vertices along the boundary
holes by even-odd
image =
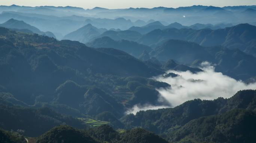
[[[139,111],[136,115],[129,114],[121,118],[121,121],[124,123],[125,128],[142,127],[154,131],[164,138],[168,138],[169,141],[173,141],[173,139],[169,138],[170,134],[174,133],[174,131],[179,128],[183,128],[190,121],[197,120],[200,117],[215,115],[214,118],[217,118],[218,114],[223,114],[237,108],[256,111],[255,100],[256,90],[241,90],[229,99],[218,98],[213,101],[194,99],[175,108]],[[243,122],[241,124],[245,123]],[[198,125],[191,127],[195,128],[197,126]],[[242,130],[241,127],[238,128],[237,130]],[[193,133],[193,131],[191,131],[191,133]],[[175,137],[175,135],[172,137]],[[200,139],[202,138],[203,137]],[[181,139],[177,139],[176,142],[179,140]]]

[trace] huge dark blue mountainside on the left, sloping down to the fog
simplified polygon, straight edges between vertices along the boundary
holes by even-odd
[[[129,89],[126,85],[136,78],[129,80],[125,77],[150,77],[164,73],[161,69],[149,67],[131,55],[113,48],[89,48],[76,41],[57,41],[48,36],[19,33],[6,28],[1,28],[0,31],[4,37],[0,41],[0,67],[4,69],[1,70],[0,85],[1,92],[12,95],[8,98],[12,99],[10,101],[22,101],[21,103],[33,105],[37,104],[38,99],[40,102],[51,102],[54,105],[66,105],[67,108],[62,112],[73,112],[71,114],[77,115],[78,110],[94,116],[100,113],[101,110],[97,106],[100,104],[105,105],[102,112],[110,111],[119,117],[125,110],[120,102],[129,101],[135,96],[134,91],[127,94]],[[18,40],[21,38],[24,43],[19,43]],[[51,48],[47,48],[49,46]],[[12,52],[16,53],[15,56],[12,56]],[[103,81],[99,82],[100,80]],[[155,82],[148,84],[146,78],[143,80],[141,86],[147,87],[143,89],[144,92],[151,88],[155,91],[155,85],[151,85]],[[95,89],[94,86],[101,87],[102,90]],[[69,92],[73,90],[76,93]],[[113,97],[113,91],[128,96],[125,99]],[[70,96],[73,94],[76,98]],[[153,96],[157,97],[158,92]],[[88,109],[85,110],[82,105]],[[131,103],[127,106],[130,105]],[[120,106],[119,111],[115,110],[117,106]]]

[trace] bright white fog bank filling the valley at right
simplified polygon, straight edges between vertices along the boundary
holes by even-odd
[[[256,89],[256,83],[246,84],[222,73],[215,72],[214,66],[208,62],[202,63],[201,69],[204,71],[198,73],[169,70],[167,73],[172,72],[179,74],[179,76],[163,77],[163,75],[159,75],[153,77],[155,80],[171,85],[170,88],[157,89],[160,93],[160,98],[165,98],[170,107],[176,107],[188,100],[198,98],[212,100],[218,97],[230,98],[239,90]],[[158,108],[167,108],[167,106],[135,105],[126,113],[136,114],[140,110]]]

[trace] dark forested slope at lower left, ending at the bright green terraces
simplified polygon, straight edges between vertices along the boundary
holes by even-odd
[[[15,106],[1,98],[0,112],[4,115],[0,118],[0,128],[22,130],[24,136],[37,137],[61,124],[68,124],[76,128],[88,127],[80,120],[57,113],[52,109]]]

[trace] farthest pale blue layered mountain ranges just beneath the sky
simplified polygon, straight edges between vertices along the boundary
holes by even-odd
[[[12,5],[0,7],[0,23],[12,18],[22,20],[42,31],[51,31],[58,39],[89,23],[98,28],[119,28],[121,30],[127,30],[132,26],[143,26],[154,21],[159,21],[163,25],[169,25],[173,22],[178,22],[182,25],[194,25],[191,28],[195,29],[202,28],[196,23],[204,24],[205,27],[211,29],[231,26],[229,23],[232,25],[237,25],[238,23],[256,24],[253,15],[253,10],[256,9],[255,6],[240,6],[239,8],[235,6],[190,6],[176,9],[167,7],[154,7],[152,9],[105,9],[95,7],[87,10],[70,6],[28,7]],[[146,14],[145,11],[147,11]]]

